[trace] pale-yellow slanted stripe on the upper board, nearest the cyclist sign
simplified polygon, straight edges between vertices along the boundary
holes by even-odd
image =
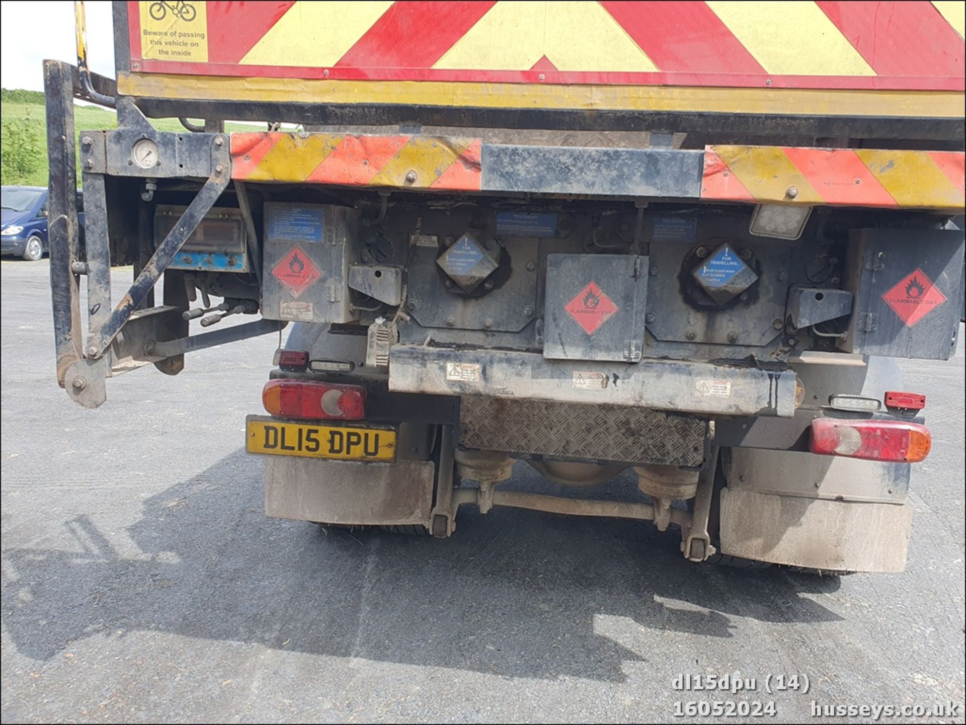
[[[297,2],[241,59],[242,65],[334,66],[391,2]]]

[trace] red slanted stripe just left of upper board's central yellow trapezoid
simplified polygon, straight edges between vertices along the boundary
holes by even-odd
[[[336,67],[432,68],[496,2],[401,2],[390,7]]]

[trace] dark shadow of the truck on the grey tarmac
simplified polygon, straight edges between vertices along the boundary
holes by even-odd
[[[519,464],[513,486],[553,485]],[[119,556],[83,516],[67,525],[83,553],[5,551],[4,624],[23,655],[156,630],[619,682],[624,660],[651,656],[636,644],[642,628],[730,637],[735,616],[840,619],[802,596],[837,589],[836,578],[697,567],[681,557],[676,531],[640,522],[467,508],[455,537],[437,541],[269,519],[262,468],[241,451],[146,500],[128,528],[140,556]]]

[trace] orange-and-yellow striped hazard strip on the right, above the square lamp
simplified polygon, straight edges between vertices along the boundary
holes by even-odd
[[[963,209],[963,158],[961,152],[709,146],[701,199]]]

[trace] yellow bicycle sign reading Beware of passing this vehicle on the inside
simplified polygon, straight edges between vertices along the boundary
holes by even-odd
[[[139,2],[141,57],[208,62],[208,14],[204,2]]]

